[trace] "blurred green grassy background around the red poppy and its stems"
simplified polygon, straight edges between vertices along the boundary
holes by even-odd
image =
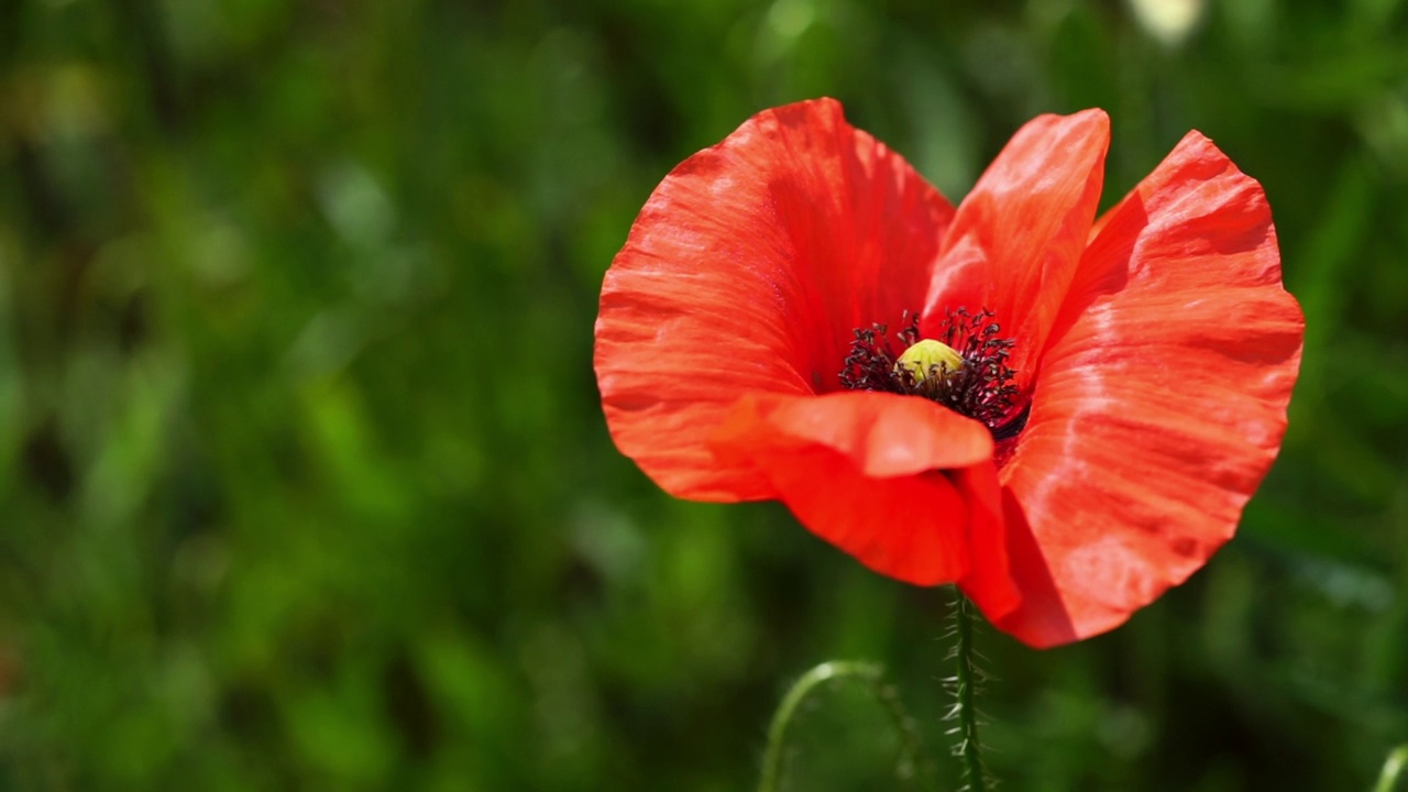
[[[1087,106],[1107,206],[1188,128],[1263,182],[1308,327],[1281,459],[1124,629],[981,633],[988,761],[1367,789],[1408,740],[1408,3],[953,6],[0,3],[0,788],[749,789],[839,657],[955,789],[946,593],[669,499],[591,372],[659,179],[829,94],[953,200]],[[886,723],[825,689],[788,788],[918,788]]]

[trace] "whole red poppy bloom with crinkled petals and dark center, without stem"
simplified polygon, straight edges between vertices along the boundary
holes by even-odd
[[[1100,110],[1042,116],[955,210],[836,101],[755,116],[607,272],[617,445],[1028,644],[1124,623],[1231,538],[1304,326],[1253,179],[1188,132],[1097,221],[1108,142]]]

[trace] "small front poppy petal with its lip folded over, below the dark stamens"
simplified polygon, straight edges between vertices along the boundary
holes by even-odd
[[[893,393],[765,393],[741,399],[712,443],[812,533],[877,572],[936,585],[972,568],[970,509],[942,468],[993,469],[991,435],[977,421]],[[1000,551],[983,548],[983,562],[1001,564],[984,579],[1005,578]],[[1005,596],[1015,602],[1015,588]]]

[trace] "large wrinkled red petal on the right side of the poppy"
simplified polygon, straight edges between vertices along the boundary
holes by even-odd
[[[1260,185],[1190,132],[1102,220],[1053,328],[1001,469],[1024,596],[998,627],[1086,638],[1202,567],[1276,458],[1302,335]]]

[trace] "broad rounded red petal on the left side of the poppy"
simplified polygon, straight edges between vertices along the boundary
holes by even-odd
[[[710,434],[743,393],[839,389],[853,330],[919,307],[952,213],[834,100],[759,113],[686,159],[601,289],[594,364],[617,447],[680,497],[770,497]]]

